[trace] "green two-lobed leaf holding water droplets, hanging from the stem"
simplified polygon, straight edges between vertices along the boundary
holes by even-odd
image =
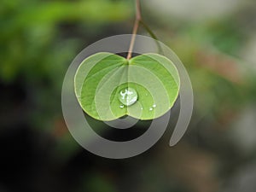
[[[75,74],[75,94],[81,108],[99,120],[129,115],[155,119],[177,100],[179,76],[163,55],[138,55],[127,61],[111,53],[86,58]]]

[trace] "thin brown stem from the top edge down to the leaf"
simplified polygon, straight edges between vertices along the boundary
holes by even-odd
[[[137,30],[140,25],[140,21],[142,20],[142,11],[141,11],[141,4],[139,0],[136,0],[136,20],[134,22],[133,30],[132,30],[132,36],[131,36],[131,44],[127,55],[127,60],[131,59],[132,50],[135,43],[135,38],[137,35]]]

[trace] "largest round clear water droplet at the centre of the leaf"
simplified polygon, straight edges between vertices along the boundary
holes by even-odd
[[[137,102],[137,91],[128,87],[119,92],[119,101],[126,106],[131,106]]]

